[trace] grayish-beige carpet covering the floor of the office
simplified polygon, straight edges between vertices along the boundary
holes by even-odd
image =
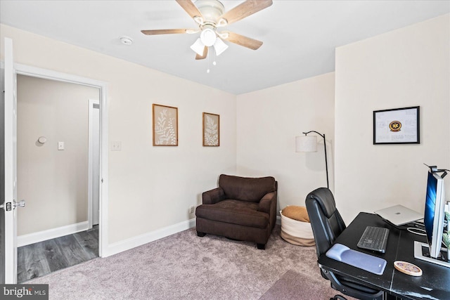
[[[195,228],[105,259],[26,282],[49,299],[329,299],[315,247],[285,242],[276,226],[266,250]],[[311,296],[313,296],[311,298]]]

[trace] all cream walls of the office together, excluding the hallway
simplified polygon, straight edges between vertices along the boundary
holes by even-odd
[[[0,33],[18,63],[108,82],[108,138],[122,141],[110,152],[110,242],[192,218],[188,207],[221,173],[275,176],[280,207],[303,205],[326,175],[320,145],[295,153],[302,131],[326,133],[347,223],[394,203],[423,211],[423,162],[450,167],[449,15],[338,48],[335,74],[238,97],[12,27]],[[152,103],[179,107],[179,147],[152,146]],[[373,145],[373,110],[412,105],[420,145]],[[201,146],[202,112],[220,115],[219,148]]]

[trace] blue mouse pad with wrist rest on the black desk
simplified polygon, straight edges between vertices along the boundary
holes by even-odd
[[[385,259],[380,259],[380,257],[350,249],[343,244],[333,244],[333,247],[331,247],[325,255],[330,259],[347,263],[347,265],[354,266],[377,275],[383,274],[387,264]]]

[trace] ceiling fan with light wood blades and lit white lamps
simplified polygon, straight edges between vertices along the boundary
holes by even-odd
[[[197,0],[195,4],[191,0],[176,0],[176,2],[197,22],[197,29],[141,30],[141,32],[147,35],[195,34],[200,32],[200,37],[191,46],[191,49],[197,53],[196,60],[205,59],[210,46],[214,46],[214,51],[219,56],[228,48],[223,40],[253,50],[257,50],[262,45],[262,41],[250,39],[250,37],[244,37],[234,32],[218,32],[217,28],[242,20],[271,6],[272,0],[246,0],[227,12],[225,12],[224,4],[221,4],[218,0]]]

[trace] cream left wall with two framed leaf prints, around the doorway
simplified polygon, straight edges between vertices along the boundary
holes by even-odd
[[[236,172],[236,96],[141,65],[1,25],[17,63],[108,83],[109,242],[192,219],[191,205]],[[179,146],[152,145],[152,103],[178,107]],[[203,147],[202,113],[220,115],[220,147]]]

